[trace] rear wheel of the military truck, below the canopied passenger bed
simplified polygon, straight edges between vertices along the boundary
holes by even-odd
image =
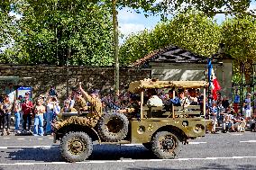
[[[173,159],[178,156],[180,141],[169,131],[156,133],[151,142],[152,152],[161,159]]]

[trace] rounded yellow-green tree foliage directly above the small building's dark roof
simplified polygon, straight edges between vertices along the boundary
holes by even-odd
[[[180,13],[167,22],[160,22],[152,31],[141,31],[121,46],[123,65],[131,64],[153,50],[176,45],[209,57],[218,49],[221,31],[217,23],[197,12]]]

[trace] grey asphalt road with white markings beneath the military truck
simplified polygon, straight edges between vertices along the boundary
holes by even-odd
[[[219,169],[255,170],[256,133],[208,134],[191,140],[176,159],[154,157],[142,145],[95,145],[82,163],[66,163],[51,137],[0,137],[0,170],[4,169]]]

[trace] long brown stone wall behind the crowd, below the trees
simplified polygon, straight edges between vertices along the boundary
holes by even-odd
[[[46,94],[50,85],[56,86],[60,99],[67,93],[67,67],[56,66],[23,66],[0,65],[0,76],[31,77],[19,79],[17,85],[30,85],[33,88],[33,97]],[[151,69],[147,68],[120,68],[120,89],[134,80],[151,77]],[[69,67],[69,93],[71,87],[82,81],[85,88],[110,91],[114,89],[114,67]],[[3,83],[3,82],[2,82]],[[2,84],[3,85],[3,84]],[[5,86],[2,88],[5,88]]]

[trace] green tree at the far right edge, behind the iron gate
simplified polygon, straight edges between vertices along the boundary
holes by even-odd
[[[256,18],[251,16],[234,17],[222,25],[225,53],[235,58],[234,81],[241,82],[239,73],[243,66],[245,82],[251,83],[252,63],[256,60]]]

